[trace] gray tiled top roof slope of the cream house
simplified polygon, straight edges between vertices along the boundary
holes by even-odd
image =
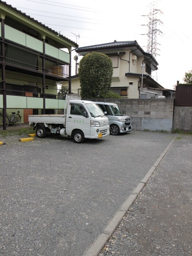
[[[114,42],[111,42],[111,43],[79,47],[76,51],[78,52],[78,50],[100,49],[100,48],[116,47],[116,46],[127,46],[127,45],[133,45],[133,44],[138,44],[138,42],[136,40],[135,41],[118,41],[118,42],[115,40]]]

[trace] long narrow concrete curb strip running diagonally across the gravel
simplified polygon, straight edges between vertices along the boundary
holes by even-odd
[[[88,249],[84,256],[98,256],[98,254],[101,252],[102,248],[106,245],[107,241],[109,240],[109,237],[112,235],[116,227],[121,222],[122,218],[126,214],[126,212],[131,207],[132,203],[135,201],[135,199],[138,197],[139,193],[142,191],[144,186],[146,185],[147,181],[161,162],[162,158],[165,156],[169,148],[172,146],[174,140],[176,137],[169,143],[169,145],[166,147],[166,149],[163,151],[161,156],[157,159],[157,161],[154,163],[154,165],[151,167],[151,169],[147,172],[145,177],[140,181],[138,186],[134,189],[132,194],[128,197],[128,199],[122,204],[120,207],[120,210],[116,213],[116,215],[113,217],[113,219],[109,222],[108,226],[103,230],[103,233],[97,238],[97,240],[91,245],[90,249]]]

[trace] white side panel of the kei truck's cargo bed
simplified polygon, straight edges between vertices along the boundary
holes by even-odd
[[[29,123],[65,124],[65,114],[29,115]]]

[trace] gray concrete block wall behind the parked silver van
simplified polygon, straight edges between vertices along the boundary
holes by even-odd
[[[135,130],[172,131],[174,99],[89,99],[116,103]]]

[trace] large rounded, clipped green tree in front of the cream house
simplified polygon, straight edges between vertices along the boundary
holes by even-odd
[[[103,53],[86,54],[79,63],[82,98],[101,98],[108,93],[113,75],[112,60]]]

